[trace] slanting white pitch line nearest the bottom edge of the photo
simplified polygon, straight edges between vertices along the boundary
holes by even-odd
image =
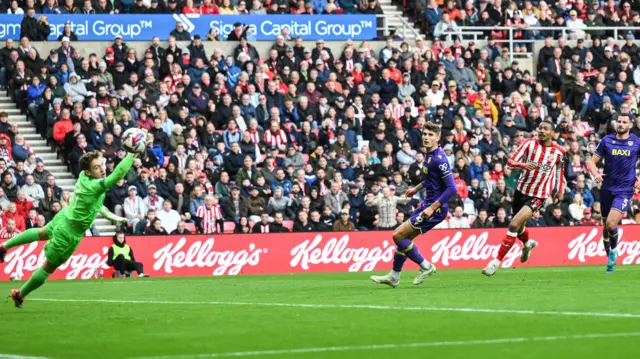
[[[375,344],[375,345],[353,345],[353,346],[344,346],[344,347],[319,347],[319,348],[299,348],[299,349],[281,349],[281,350],[258,350],[258,351],[245,351],[245,352],[195,354],[195,355],[135,357],[132,359],[189,359],[189,358],[253,357],[253,356],[285,355],[285,354],[309,354],[309,353],[325,353],[325,352],[383,350],[383,349],[407,349],[407,348],[426,348],[426,347],[507,344],[507,343],[578,340],[578,339],[623,338],[623,337],[637,337],[637,336],[640,336],[640,332],[578,334],[578,335],[559,335],[559,336],[530,337],[530,338],[526,338],[526,337],[502,338],[502,339],[488,339],[488,340],[423,342],[423,343],[407,343],[407,344],[393,343],[393,344]]]

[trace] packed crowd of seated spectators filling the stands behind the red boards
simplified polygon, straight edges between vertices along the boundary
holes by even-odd
[[[456,9],[451,4],[442,6],[446,13]],[[511,4],[502,12],[516,18],[518,4]],[[500,10],[500,0],[490,6]],[[402,194],[420,182],[426,122],[442,127],[458,188],[439,228],[507,227],[519,172],[505,164],[543,119],[557,124],[556,141],[567,149],[568,186],[560,205],[527,225],[593,225],[599,192],[585,161],[620,113],[640,134],[632,34],[622,45],[597,36],[575,47],[546,34],[530,73],[496,34],[482,48],[459,38],[450,46],[388,38],[379,51],[348,41],[334,53],[322,40],[307,48],[285,33],[260,54],[240,23],[230,35],[238,38],[232,53],[207,53],[199,35],[180,48],[183,33],[178,23],[168,44],[155,38],[144,54],[119,36],[104,53],[83,53],[71,29],[46,54],[27,36],[0,49],[1,85],[75,175],[79,157],[94,149],[112,171],[125,154],[121,134],[147,131],[148,150],[106,199],[136,234],[395,228],[423,196]],[[0,146],[24,144],[1,114],[0,133]],[[25,191],[31,181],[20,184],[15,173],[44,164],[2,148],[7,213],[19,201],[15,187]],[[68,193],[37,176],[46,220],[67,205]],[[638,207],[636,196],[625,221],[635,222]]]

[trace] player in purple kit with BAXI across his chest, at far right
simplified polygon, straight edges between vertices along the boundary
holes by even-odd
[[[596,148],[596,153],[587,162],[589,172],[600,187],[600,209],[602,211],[602,240],[607,252],[607,273],[615,272],[618,259],[618,223],[629,209],[634,189],[638,187],[636,162],[640,154],[640,138],[630,133],[633,123],[628,114],[618,116],[616,133],[605,136]],[[600,175],[597,165],[604,158],[604,173]]]

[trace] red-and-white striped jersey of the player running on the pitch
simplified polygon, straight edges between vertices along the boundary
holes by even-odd
[[[552,195],[556,182],[558,192],[564,191],[564,148],[558,145],[545,146],[537,139],[523,142],[516,152],[509,158],[507,166],[521,168],[517,189],[529,197],[546,199]],[[535,163],[536,167],[528,170],[525,166]],[[556,178],[557,166],[560,166],[560,176]]]

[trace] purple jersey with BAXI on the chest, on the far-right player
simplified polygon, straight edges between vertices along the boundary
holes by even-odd
[[[607,190],[614,195],[633,194],[640,138],[630,134],[629,138],[620,140],[615,134],[606,135],[598,144],[596,154],[604,159],[601,190]]]

